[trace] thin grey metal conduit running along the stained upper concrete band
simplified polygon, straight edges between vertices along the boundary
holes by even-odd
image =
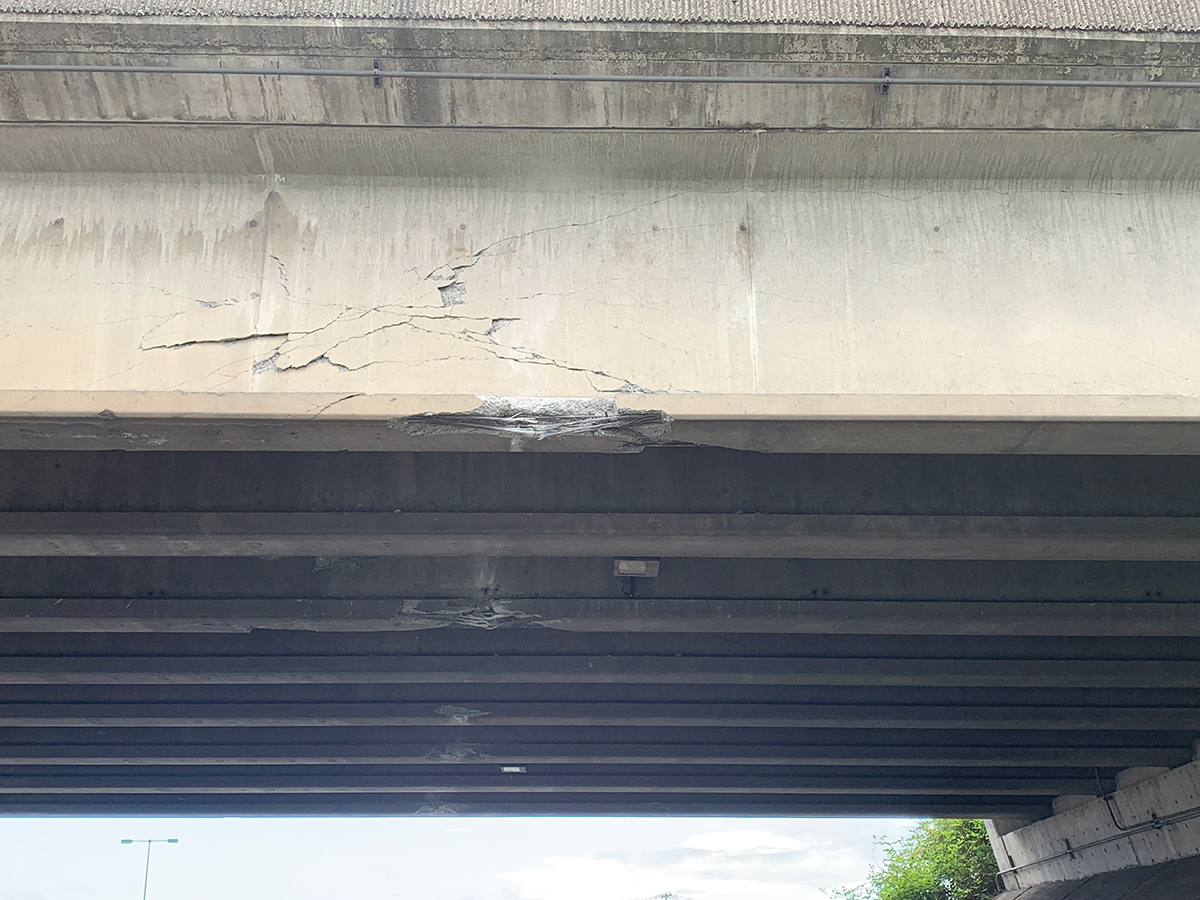
[[[1086,78],[925,78],[892,76],[704,76],[704,74],[577,74],[560,72],[400,72],[384,68],[262,68],[211,66],[120,66],[60,65],[41,62],[5,62],[0,72],[50,72],[82,74],[192,74],[250,77],[324,77],[372,78],[379,85],[384,78],[430,79],[445,82],[583,82],[598,84],[781,84],[781,85],[892,85],[962,86],[962,88],[1115,88],[1196,90],[1200,82],[1092,80]]]

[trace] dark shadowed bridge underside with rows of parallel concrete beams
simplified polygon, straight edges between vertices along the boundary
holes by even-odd
[[[1033,820],[1200,734],[1196,457],[5,451],[0,505],[5,812]]]

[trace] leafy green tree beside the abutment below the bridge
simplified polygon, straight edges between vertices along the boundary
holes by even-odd
[[[896,841],[881,841],[883,864],[842,900],[985,900],[996,859],[978,818],[932,818]]]

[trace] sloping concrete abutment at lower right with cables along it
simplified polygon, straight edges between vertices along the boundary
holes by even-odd
[[[1118,788],[1106,798],[1056,802],[1057,815],[1007,834],[992,827],[1006,887],[1078,881],[1200,854],[1200,762],[1147,774],[1118,775]],[[1118,896],[1097,894],[1110,895]]]

